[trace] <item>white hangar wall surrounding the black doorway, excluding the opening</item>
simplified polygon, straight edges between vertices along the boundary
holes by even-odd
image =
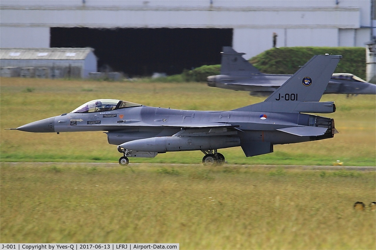
[[[272,47],[359,46],[370,40],[369,0],[0,2],[2,48],[49,47],[50,27],[232,28],[247,58]]]

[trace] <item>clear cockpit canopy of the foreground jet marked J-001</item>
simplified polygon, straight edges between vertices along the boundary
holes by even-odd
[[[92,112],[103,112],[109,110],[116,110],[119,108],[128,108],[128,107],[138,107],[142,106],[141,104],[115,100],[115,99],[98,99],[86,102],[80,107],[71,111],[70,113],[92,113]]]

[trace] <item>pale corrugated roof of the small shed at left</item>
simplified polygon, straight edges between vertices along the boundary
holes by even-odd
[[[2,48],[0,59],[83,60],[93,48]]]

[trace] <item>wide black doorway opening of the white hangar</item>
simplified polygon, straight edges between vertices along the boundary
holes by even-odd
[[[130,77],[221,63],[223,46],[232,46],[232,29],[50,28],[50,47],[91,47],[98,70],[106,65]]]

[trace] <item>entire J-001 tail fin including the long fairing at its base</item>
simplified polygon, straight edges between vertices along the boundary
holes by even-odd
[[[332,113],[334,103],[320,99],[341,58],[328,54],[314,56],[265,101],[233,111]]]

